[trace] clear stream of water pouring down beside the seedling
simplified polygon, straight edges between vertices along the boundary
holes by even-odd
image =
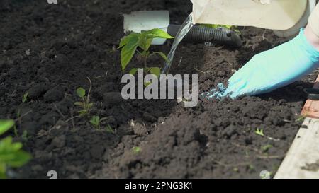
[[[172,62],[174,59],[174,54],[175,54],[175,51],[176,51],[179,43],[181,42],[181,40],[183,40],[185,35],[187,33],[189,33],[189,30],[191,30],[191,28],[193,26],[194,26],[193,17],[191,15],[189,15],[186,18],[186,20],[184,21],[184,23],[181,25],[181,28],[179,29],[179,31],[174,39],[171,51],[169,51],[169,54],[167,55],[167,62],[165,63],[164,68],[162,69],[162,74],[168,73],[169,69],[171,68],[171,65],[172,65]]]

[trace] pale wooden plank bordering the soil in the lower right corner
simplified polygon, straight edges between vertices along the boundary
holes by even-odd
[[[274,178],[319,179],[319,119],[305,119]]]

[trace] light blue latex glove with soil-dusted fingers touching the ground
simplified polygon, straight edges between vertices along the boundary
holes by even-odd
[[[229,80],[228,88],[203,93],[202,98],[237,98],[242,95],[269,93],[276,88],[298,81],[319,67],[319,52],[301,29],[293,40],[252,57]]]

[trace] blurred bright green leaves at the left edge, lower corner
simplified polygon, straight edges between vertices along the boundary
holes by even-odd
[[[13,127],[13,120],[0,120],[0,135]],[[22,144],[12,141],[11,136],[0,140],[0,179],[6,178],[7,168],[19,168],[26,164],[31,156],[21,150]]]

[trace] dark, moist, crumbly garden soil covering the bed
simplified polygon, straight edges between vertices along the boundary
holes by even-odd
[[[191,1],[57,2],[0,1],[0,119],[16,119],[15,140],[33,155],[10,177],[47,178],[49,170],[60,178],[259,178],[262,170],[276,172],[301,127],[302,90],[313,86],[315,74],[267,95],[196,107],[121,100],[119,13],[167,9],[171,23],[180,24]],[[269,30],[240,30],[239,49],[182,43],[171,73],[198,74],[202,93],[254,54],[286,41]],[[152,49],[167,53],[171,44]],[[155,57],[149,64],[163,62]],[[129,65],[139,64],[134,59]],[[90,117],[78,117],[74,106],[80,100],[75,90],[89,90],[86,77],[91,116],[105,118],[101,130]],[[255,134],[257,128],[266,136]]]

